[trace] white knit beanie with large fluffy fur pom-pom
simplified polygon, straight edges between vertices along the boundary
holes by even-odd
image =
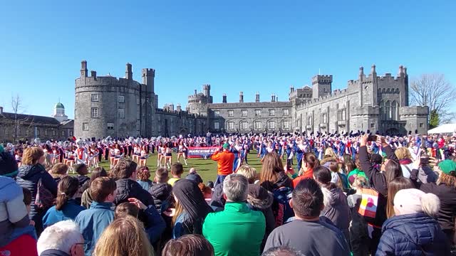
[[[416,188],[402,189],[394,196],[394,208],[400,215],[426,213],[435,215],[440,210],[440,199],[432,193]]]

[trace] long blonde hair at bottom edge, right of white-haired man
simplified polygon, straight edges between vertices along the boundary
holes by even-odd
[[[95,256],[150,256],[154,255],[140,221],[130,215],[118,218],[106,228],[93,250]]]

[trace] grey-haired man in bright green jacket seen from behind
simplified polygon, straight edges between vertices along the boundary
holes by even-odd
[[[249,181],[241,174],[230,174],[223,181],[227,203],[223,211],[209,213],[202,226],[204,238],[214,247],[215,256],[261,254],[266,229],[261,211],[250,210],[247,200]]]

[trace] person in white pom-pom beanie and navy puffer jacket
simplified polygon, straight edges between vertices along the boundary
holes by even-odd
[[[439,198],[432,193],[415,188],[398,191],[395,216],[383,223],[375,255],[451,255],[450,241],[432,218],[439,209]]]

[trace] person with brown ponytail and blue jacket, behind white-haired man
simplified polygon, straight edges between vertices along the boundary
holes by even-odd
[[[62,220],[74,220],[82,210],[86,210],[74,199],[78,188],[78,178],[66,176],[61,179],[57,186],[56,206],[49,208],[44,215],[43,228]]]

